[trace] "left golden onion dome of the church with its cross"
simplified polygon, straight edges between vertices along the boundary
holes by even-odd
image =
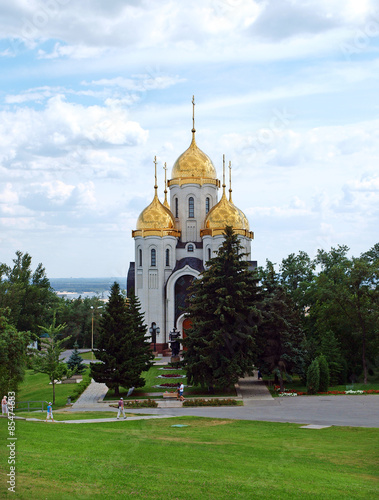
[[[158,198],[157,165],[155,164],[155,194],[153,201],[140,213],[137,219],[137,229],[132,231],[136,236],[180,236],[180,231],[175,229],[175,219],[171,211],[165,207]]]

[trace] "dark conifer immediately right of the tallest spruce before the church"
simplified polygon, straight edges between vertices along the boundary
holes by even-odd
[[[259,366],[263,372],[279,375],[281,391],[284,375],[304,371],[304,333],[299,309],[280,284],[274,265],[267,262],[260,269],[263,300],[260,304],[262,321],[259,325]]]

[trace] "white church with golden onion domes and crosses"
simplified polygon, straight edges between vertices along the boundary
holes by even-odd
[[[245,214],[232,200],[230,163],[227,195],[225,158],[221,186],[211,159],[196,144],[194,99],[192,105],[191,144],[174,163],[168,182],[165,165],[164,201],[158,197],[154,159],[154,197],[139,215],[136,229],[132,231],[135,262],[129,267],[128,293],[133,288],[138,296],[153,349],[158,353],[168,349],[170,332],[176,329],[182,338],[186,336],[186,329],[190,327],[185,316],[188,287],[202,273],[207,261],[216,255],[224,240],[225,226],[232,226],[250,267],[256,267],[256,262],[249,260],[254,233]]]

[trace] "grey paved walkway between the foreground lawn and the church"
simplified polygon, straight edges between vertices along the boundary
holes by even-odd
[[[105,384],[92,382],[71,410],[114,411],[103,402]],[[127,408],[128,413],[149,414],[144,418],[171,418],[174,416],[198,416],[210,418],[230,418],[236,420],[256,420],[266,422],[293,422],[320,426],[352,426],[379,428],[379,396],[299,396],[292,398],[272,398],[266,385],[256,377],[239,381],[237,392],[244,406],[223,407],[168,407]],[[163,401],[162,403],[166,403]],[[163,406],[163,405],[162,405]],[[128,417],[127,420],[130,420]],[[139,417],[141,418],[141,417]],[[70,420],[67,423],[87,423],[86,420]],[[92,422],[113,422],[115,419],[96,419]]]

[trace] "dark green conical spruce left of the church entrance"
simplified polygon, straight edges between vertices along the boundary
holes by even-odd
[[[102,363],[91,363],[91,375],[120,394],[120,386],[141,387],[143,371],[154,358],[146,336],[147,326],[138,299],[131,295],[129,305],[115,282],[100,320],[96,357]]]

